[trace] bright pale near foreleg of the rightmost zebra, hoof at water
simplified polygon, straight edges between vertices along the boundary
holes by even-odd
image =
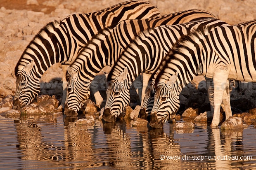
[[[214,112],[213,112],[213,120],[211,122],[212,128],[216,128],[220,123],[220,105],[223,100],[223,93],[225,91],[227,79],[228,79],[228,70],[226,68],[221,67],[221,70],[216,70],[216,72],[213,75]]]

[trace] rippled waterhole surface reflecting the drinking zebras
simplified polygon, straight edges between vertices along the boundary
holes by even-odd
[[[0,169],[256,169],[256,130],[75,125],[81,117],[0,116]],[[211,156],[211,157],[210,157]],[[214,157],[215,156],[215,157]]]

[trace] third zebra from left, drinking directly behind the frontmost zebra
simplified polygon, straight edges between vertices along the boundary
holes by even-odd
[[[214,28],[228,24],[219,19],[204,19],[159,26],[140,33],[123,51],[108,75],[107,102],[102,119],[107,122],[116,121],[130,102],[129,89],[135,78],[142,72],[148,75],[154,73],[170,48],[182,35],[208,25]],[[143,79],[143,82],[148,82],[148,79],[147,81]]]

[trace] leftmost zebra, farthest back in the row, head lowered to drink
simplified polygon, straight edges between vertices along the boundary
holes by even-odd
[[[66,65],[73,63],[79,51],[99,30],[116,26],[122,20],[159,15],[159,9],[149,2],[130,0],[97,12],[73,14],[61,22],[47,23],[28,44],[15,67],[17,80],[13,108],[20,109],[32,102],[40,93],[40,78],[53,64],[61,63],[65,75]],[[66,99],[64,78],[60,107]]]

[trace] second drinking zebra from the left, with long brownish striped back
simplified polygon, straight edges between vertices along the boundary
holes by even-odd
[[[114,28],[105,28],[95,35],[67,69],[67,101],[64,114],[77,115],[90,96],[89,87],[94,77],[105,66],[112,66],[137,33],[160,25],[177,24],[199,19],[216,18],[213,14],[190,9],[149,19],[121,21]]]

